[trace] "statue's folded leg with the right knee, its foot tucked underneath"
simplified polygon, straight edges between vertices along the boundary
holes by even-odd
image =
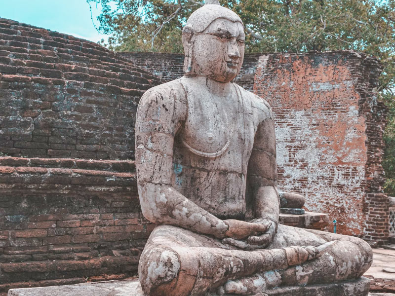
[[[268,249],[291,245],[314,245],[334,242],[317,259],[300,265],[270,272],[257,272],[252,276],[229,280],[226,293],[250,295],[277,286],[328,284],[362,276],[370,267],[373,254],[363,240],[347,235],[311,229],[278,225],[275,239]]]

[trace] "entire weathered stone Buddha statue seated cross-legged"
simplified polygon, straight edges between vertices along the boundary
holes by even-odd
[[[138,192],[157,224],[139,262],[146,296],[265,295],[356,280],[371,264],[361,239],[278,224],[273,114],[232,82],[244,40],[237,14],[206,1],[182,31],[185,75],[140,100]]]

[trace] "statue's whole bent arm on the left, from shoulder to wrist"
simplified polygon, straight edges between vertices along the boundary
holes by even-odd
[[[197,206],[172,187],[174,136],[187,107],[182,87],[168,84],[147,91],[136,116],[136,169],[143,215],[157,224],[225,237],[228,224]]]

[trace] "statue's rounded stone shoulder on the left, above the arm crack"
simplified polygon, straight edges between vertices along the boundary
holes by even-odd
[[[179,79],[155,86],[140,99],[136,132],[158,131],[174,136],[186,115],[186,95]]]

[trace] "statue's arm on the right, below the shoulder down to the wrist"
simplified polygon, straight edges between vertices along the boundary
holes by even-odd
[[[248,162],[247,180],[251,189],[253,214],[256,219],[268,219],[277,229],[280,213],[277,193],[276,135],[272,112],[260,122]]]

